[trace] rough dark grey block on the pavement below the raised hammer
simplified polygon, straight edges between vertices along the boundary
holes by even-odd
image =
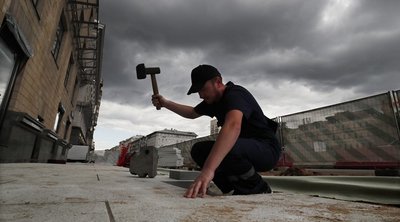
[[[130,159],[129,171],[143,178],[147,175],[154,178],[157,175],[158,152],[153,146],[142,147]]]

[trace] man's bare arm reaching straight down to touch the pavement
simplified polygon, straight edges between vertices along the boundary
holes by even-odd
[[[225,123],[218,134],[217,140],[200,175],[185,193],[185,197],[196,198],[199,194],[201,197],[205,195],[208,184],[214,177],[215,170],[221,164],[222,160],[235,145],[240,135],[243,113],[239,110],[231,110],[226,114]]]

